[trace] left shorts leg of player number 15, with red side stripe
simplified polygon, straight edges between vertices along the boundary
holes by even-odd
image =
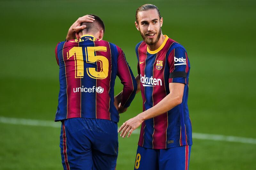
[[[81,118],[62,121],[60,135],[61,159],[64,170],[92,169],[92,149],[87,129]]]

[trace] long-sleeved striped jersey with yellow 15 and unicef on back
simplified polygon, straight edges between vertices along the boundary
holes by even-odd
[[[60,66],[55,121],[83,117],[119,121],[114,106],[116,76],[124,85],[121,105],[129,107],[137,90],[124,52],[115,44],[84,35],[55,48]]]

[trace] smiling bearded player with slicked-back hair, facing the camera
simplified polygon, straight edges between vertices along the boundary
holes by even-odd
[[[190,63],[185,48],[163,35],[162,25],[163,18],[155,5],[137,9],[135,26],[143,41],[135,48],[135,79],[143,112],[124,122],[118,132],[130,137],[142,124],[134,169],[188,170],[192,145],[187,104]]]

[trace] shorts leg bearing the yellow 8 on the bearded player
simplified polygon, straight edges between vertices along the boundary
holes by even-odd
[[[158,170],[158,149],[138,146],[134,170]]]

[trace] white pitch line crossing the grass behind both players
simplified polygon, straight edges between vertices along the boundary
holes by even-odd
[[[60,122],[34,120],[34,119],[22,119],[22,118],[9,118],[9,117],[1,117],[1,116],[0,116],[0,123],[60,128]],[[133,134],[140,134],[140,129],[135,129],[133,131]],[[194,139],[202,139],[202,140],[256,144],[255,138],[246,138],[246,137],[224,136],[224,135],[214,135],[214,134],[205,134],[205,133],[192,133],[192,137]]]

